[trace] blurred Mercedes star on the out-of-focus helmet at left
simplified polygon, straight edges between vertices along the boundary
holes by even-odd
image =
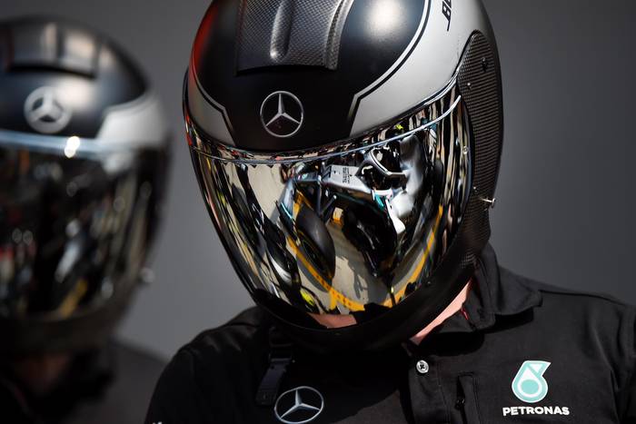
[[[26,97],[26,122],[38,133],[59,133],[71,121],[72,114],[54,87],[40,87]]]

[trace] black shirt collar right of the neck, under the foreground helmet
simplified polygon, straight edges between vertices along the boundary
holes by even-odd
[[[542,302],[540,291],[499,266],[492,246],[488,244],[478,260],[472,278],[472,289],[462,311],[445,320],[433,333],[472,332],[491,328],[498,316],[528,311]]]

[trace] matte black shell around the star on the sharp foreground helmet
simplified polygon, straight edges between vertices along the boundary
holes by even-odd
[[[237,147],[294,151],[349,137],[353,95],[372,84],[397,61],[415,35],[422,14],[429,10],[429,2],[400,2],[395,27],[379,35],[373,32],[371,22],[375,4],[381,1],[353,2],[343,27],[336,70],[296,64],[238,73],[235,38],[241,2],[214,1],[194,41],[193,69],[204,92],[225,107]],[[273,137],[261,123],[261,104],[276,91],[290,92],[303,104],[303,126],[289,138]]]

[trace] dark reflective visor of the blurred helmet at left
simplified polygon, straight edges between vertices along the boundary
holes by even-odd
[[[67,318],[129,290],[163,155],[0,131],[0,317]]]

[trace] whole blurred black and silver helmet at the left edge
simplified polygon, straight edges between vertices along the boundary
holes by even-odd
[[[102,343],[143,269],[167,132],[139,68],[54,18],[0,22],[0,353]]]

